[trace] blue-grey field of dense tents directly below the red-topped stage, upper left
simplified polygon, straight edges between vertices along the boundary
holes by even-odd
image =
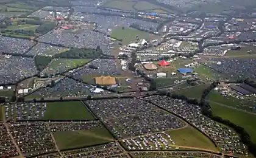
[[[65,47],[76,48],[92,48],[101,47],[104,54],[110,54],[110,43],[104,33],[94,32],[91,30],[83,30],[82,33],[65,32],[62,30],[52,30],[48,34],[41,37],[38,41],[62,45]]]

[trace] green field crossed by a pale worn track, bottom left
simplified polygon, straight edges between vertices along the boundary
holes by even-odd
[[[59,149],[85,147],[113,141],[112,135],[105,128],[54,132],[54,138]]]

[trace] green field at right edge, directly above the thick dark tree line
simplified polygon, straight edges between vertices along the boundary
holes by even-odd
[[[256,115],[247,114],[246,112],[242,111],[236,111],[235,109],[230,109],[211,102],[210,106],[212,107],[213,115],[222,117],[222,119],[230,120],[230,122],[243,127],[251,136],[252,141],[256,143]]]

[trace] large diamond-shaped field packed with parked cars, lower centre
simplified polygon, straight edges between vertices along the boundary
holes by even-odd
[[[88,106],[118,139],[182,128],[185,123],[143,100],[91,100]]]

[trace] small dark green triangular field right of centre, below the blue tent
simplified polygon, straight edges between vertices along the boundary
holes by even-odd
[[[201,98],[202,97],[202,92],[204,89],[208,88],[208,84],[204,85],[199,85],[199,86],[193,86],[191,88],[186,88],[186,89],[180,89],[179,91],[175,91],[175,94],[181,94],[185,95],[188,98]]]

